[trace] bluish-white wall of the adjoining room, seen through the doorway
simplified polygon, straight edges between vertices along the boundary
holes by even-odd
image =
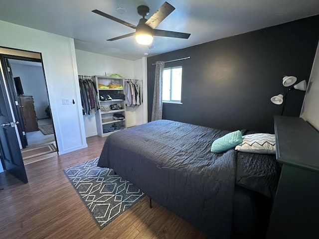
[[[33,96],[35,115],[37,119],[48,118],[45,109],[49,105],[48,94],[43,75],[42,64],[39,66],[21,65],[11,63],[13,77],[20,77],[23,93],[26,96]]]

